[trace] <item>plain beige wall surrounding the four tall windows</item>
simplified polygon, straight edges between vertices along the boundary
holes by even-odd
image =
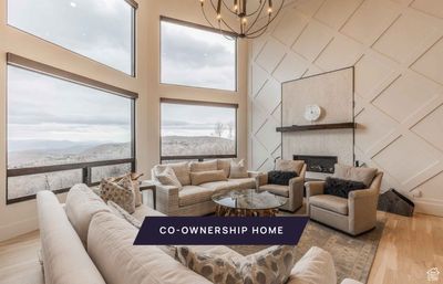
[[[10,0],[14,1],[14,0]],[[122,0],[123,1],[123,0]],[[136,152],[138,171],[147,177],[159,159],[159,98],[198,99],[239,104],[238,156],[247,154],[247,44],[238,45],[238,92],[161,85],[159,15],[205,24],[196,0],[138,1],[136,19],[137,77],[130,77],[54,44],[7,25],[7,0],[0,0],[0,241],[38,228],[35,201],[6,206],[6,53],[35,60],[101,82],[137,92]],[[61,199],[64,194],[60,196]]]

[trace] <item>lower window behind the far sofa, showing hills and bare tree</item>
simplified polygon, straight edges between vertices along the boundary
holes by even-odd
[[[237,156],[237,105],[162,99],[162,161]]]

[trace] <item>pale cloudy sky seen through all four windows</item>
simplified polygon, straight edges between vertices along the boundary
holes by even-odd
[[[131,73],[132,8],[124,0],[13,0],[8,23]],[[235,90],[236,42],[162,23],[162,81]],[[8,67],[8,139],[128,141],[128,99],[30,71]],[[234,109],[172,106],[164,135],[213,135]],[[224,136],[228,136],[226,130]]]

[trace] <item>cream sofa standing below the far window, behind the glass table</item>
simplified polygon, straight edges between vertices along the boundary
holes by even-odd
[[[215,203],[212,200],[213,194],[229,191],[233,189],[257,188],[256,177],[260,173],[248,171],[248,177],[229,178],[231,159],[215,159],[203,162],[177,162],[157,165],[152,169],[154,180],[158,172],[166,167],[171,167],[182,188],[157,183],[156,209],[167,215],[205,215],[215,212]],[[209,181],[198,186],[193,186],[190,180],[192,172],[203,172],[223,170],[226,180]]]

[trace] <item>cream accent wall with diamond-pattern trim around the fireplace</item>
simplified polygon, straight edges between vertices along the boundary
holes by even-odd
[[[249,46],[255,169],[280,155],[280,83],[356,65],[357,159],[443,215],[443,1],[296,0]]]

